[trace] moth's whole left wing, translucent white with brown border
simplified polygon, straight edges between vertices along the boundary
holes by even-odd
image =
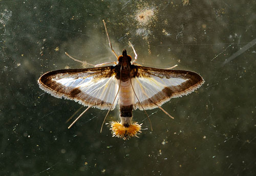
[[[115,74],[114,66],[55,70],[42,75],[38,84],[42,90],[57,98],[64,97],[84,106],[110,109],[119,86]]]

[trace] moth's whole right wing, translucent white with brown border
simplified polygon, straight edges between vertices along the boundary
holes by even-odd
[[[144,109],[158,108],[170,98],[187,95],[204,83],[203,78],[192,71],[134,67],[137,73],[132,83]],[[138,99],[134,96],[134,109],[143,110]]]

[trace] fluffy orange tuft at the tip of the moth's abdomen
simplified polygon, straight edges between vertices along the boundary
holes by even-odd
[[[131,137],[138,137],[137,134],[141,133],[141,124],[138,122],[132,122],[130,125],[127,123],[120,123],[118,121],[111,121],[110,122],[113,137],[122,138],[123,140],[130,139]]]

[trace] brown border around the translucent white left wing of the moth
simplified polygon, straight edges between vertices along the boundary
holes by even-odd
[[[85,69],[62,69],[50,71],[38,79],[39,87],[57,98],[75,100],[84,106],[94,106],[99,109],[110,109],[113,102],[105,102],[97,97],[81,91],[79,88],[62,85],[56,80],[60,79],[101,79],[111,78],[115,75],[114,66],[85,68]]]

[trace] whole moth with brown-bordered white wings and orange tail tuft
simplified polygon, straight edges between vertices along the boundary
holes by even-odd
[[[122,55],[117,56],[110,42],[104,20],[103,24],[117,62],[93,65],[78,61],[66,53],[71,59],[94,67],[50,71],[38,79],[38,84],[42,90],[57,98],[64,97],[75,100],[75,102],[88,107],[70,127],[91,107],[109,110],[106,114],[108,116],[109,112],[114,110],[118,104],[120,122],[108,123],[111,126],[113,137],[124,140],[134,136],[138,137],[142,124],[133,121],[133,110],[143,110],[147,115],[145,110],[160,108],[173,118],[161,108],[161,105],[168,102],[170,98],[193,92],[204,83],[204,80],[196,72],[174,70],[173,68],[177,65],[159,69],[137,64],[138,55],[131,43],[130,46],[135,54],[134,59],[127,55],[125,49],[122,51]],[[103,123],[100,131],[102,131]]]

